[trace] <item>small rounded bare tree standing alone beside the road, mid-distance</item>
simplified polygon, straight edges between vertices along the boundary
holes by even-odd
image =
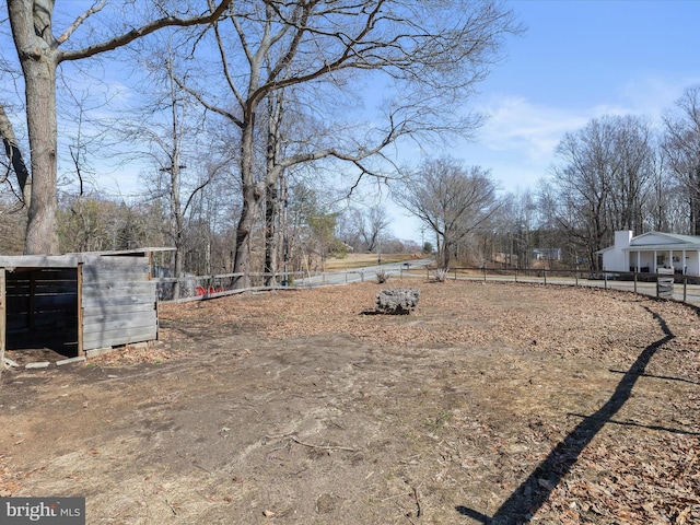
[[[441,266],[498,210],[495,184],[480,166],[450,158],[425,161],[397,190],[397,202],[436,236]]]

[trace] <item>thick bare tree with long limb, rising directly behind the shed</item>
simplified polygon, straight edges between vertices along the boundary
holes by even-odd
[[[15,174],[22,186],[22,177],[32,179],[32,198],[28,209],[25,252],[27,254],[58,253],[56,228],[57,210],[57,117],[56,117],[56,72],[65,62],[88,59],[106,51],[127,46],[163,27],[194,26],[210,24],[228,9],[231,0],[222,0],[218,5],[207,5],[203,14],[190,15],[192,8],[182,5],[182,11],[167,12],[165,4],[153,2],[154,20],[140,26],[130,26],[70,49],[74,33],[85,22],[102,11],[106,0],[95,2],[77,16],[56,36],[54,27],[52,0],[8,0],[8,16],[12,37],[22,66],[25,84],[26,125],[30,139],[30,171],[21,166]],[[176,8],[177,9],[177,8]],[[126,21],[125,21],[126,22]],[[130,24],[127,22],[126,24]],[[120,26],[124,27],[124,26]],[[5,144],[13,144],[12,127],[0,127]],[[5,147],[7,150],[7,147]],[[13,158],[19,152],[10,149]],[[26,164],[26,163],[25,163]]]

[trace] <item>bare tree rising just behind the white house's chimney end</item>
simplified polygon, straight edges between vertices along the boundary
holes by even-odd
[[[556,153],[560,163],[549,209],[571,249],[598,269],[597,252],[611,243],[616,230],[644,228],[656,168],[650,126],[634,116],[604,116],[567,133]]]

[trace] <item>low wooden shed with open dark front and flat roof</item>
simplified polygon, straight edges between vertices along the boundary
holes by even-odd
[[[158,339],[151,268],[164,250],[0,256],[0,341],[77,357]]]

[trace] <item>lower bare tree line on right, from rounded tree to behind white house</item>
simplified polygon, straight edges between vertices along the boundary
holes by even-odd
[[[567,132],[535,188],[502,195],[488,170],[442,158],[410,172],[397,195],[434,234],[445,268],[527,268],[541,257],[599,270],[615,231],[700,235],[700,85],[661,122],[604,115]]]

